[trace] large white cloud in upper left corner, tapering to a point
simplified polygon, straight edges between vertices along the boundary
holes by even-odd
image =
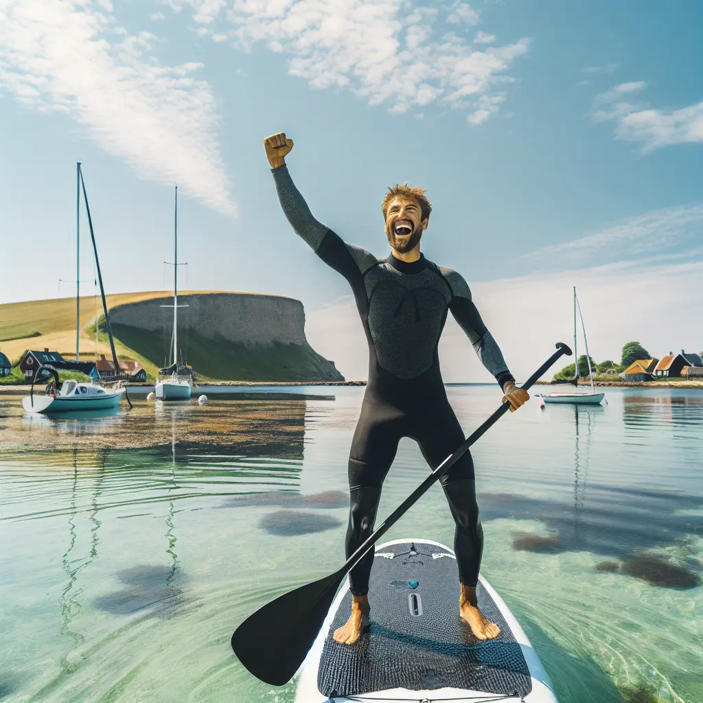
[[[28,108],[77,120],[143,179],[178,181],[233,214],[201,65],[161,65],[157,38],[129,34],[107,0],[0,0],[0,90]]]

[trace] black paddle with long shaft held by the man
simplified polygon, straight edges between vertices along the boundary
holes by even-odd
[[[572,350],[563,342],[522,385],[527,389],[563,355],[571,356]],[[396,508],[368,539],[352,554],[340,569],[323,579],[295,588],[266,603],[240,624],[232,636],[232,649],[239,661],[265,683],[282,686],[288,683],[299,669],[322,627],[342,579],[361,557],[395,524],[408,508],[441,477],[463,453],[508,412],[510,403],[505,401],[451,456],[448,456],[427,478]]]

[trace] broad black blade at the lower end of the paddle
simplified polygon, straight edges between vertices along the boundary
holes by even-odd
[[[288,683],[303,663],[346,572],[295,588],[266,603],[235,630],[232,649],[265,683]]]

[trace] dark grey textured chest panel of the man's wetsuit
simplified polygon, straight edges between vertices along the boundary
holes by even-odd
[[[401,273],[389,264],[364,276],[368,329],[379,366],[415,378],[434,363],[451,301],[449,286],[432,269]]]

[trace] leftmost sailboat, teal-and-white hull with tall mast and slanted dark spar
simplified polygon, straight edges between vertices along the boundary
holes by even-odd
[[[112,351],[112,360],[115,363],[115,369],[119,370],[120,365],[117,361],[115,352],[115,340],[112,338],[112,328],[110,327],[110,316],[108,315],[108,304],[105,301],[105,288],[103,288],[103,274],[100,270],[100,261],[98,260],[98,247],[95,242],[95,233],[93,233],[93,220],[90,215],[90,207],[88,205],[88,195],[86,193],[86,184],[83,179],[80,162],[76,164],[76,361],[80,361],[79,355],[79,340],[80,340],[80,203],[81,203],[81,186],[83,188],[83,200],[86,204],[86,214],[88,215],[88,224],[90,227],[90,236],[93,242],[93,252],[95,254],[95,265],[98,273],[98,281],[100,283],[100,292],[103,298],[103,312],[105,314],[105,326],[108,329],[108,337],[110,338],[110,349]],[[97,321],[96,321],[97,325]],[[44,396],[34,396],[34,383],[41,380],[42,372],[46,370],[53,375],[53,381],[46,386]],[[27,413],[44,413],[50,415],[53,413],[73,412],[73,411],[94,411],[107,410],[116,408],[120,404],[120,399],[124,394],[131,408],[127,389],[106,390],[105,388],[95,383],[83,383],[75,380],[67,380],[60,382],[58,372],[53,366],[46,364],[39,366],[37,372],[34,373],[30,394],[22,399],[22,407]]]

